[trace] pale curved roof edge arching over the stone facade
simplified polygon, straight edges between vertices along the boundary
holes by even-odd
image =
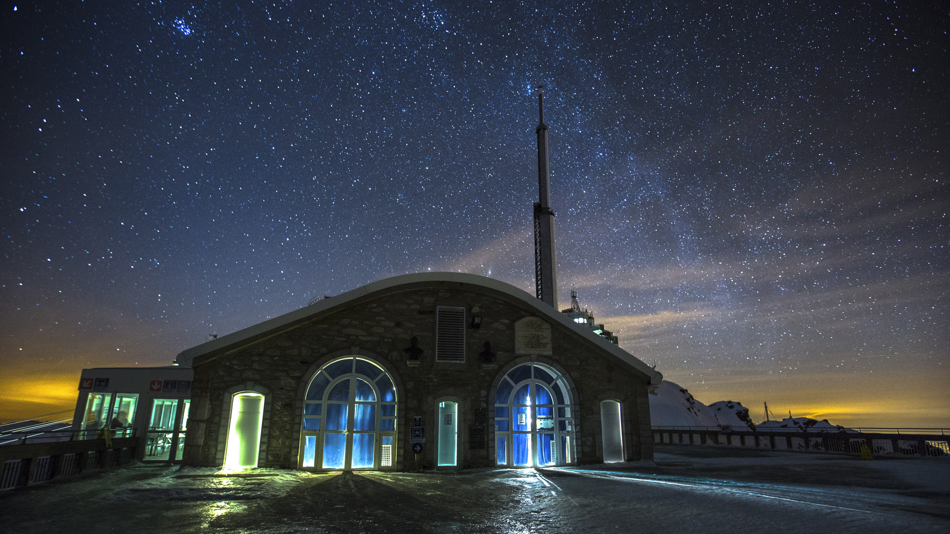
[[[240,346],[253,342],[259,337],[293,328],[299,323],[303,323],[314,318],[314,315],[324,315],[333,313],[338,308],[355,304],[362,300],[372,297],[382,296],[388,293],[405,291],[415,286],[428,286],[433,283],[453,283],[460,285],[478,286],[490,291],[501,293],[504,296],[523,304],[526,308],[533,309],[537,315],[552,322],[559,323],[562,327],[573,331],[586,341],[597,345],[600,349],[617,356],[620,360],[626,362],[638,372],[642,372],[650,379],[650,384],[659,384],[663,375],[643,363],[636,356],[624,351],[617,345],[610,343],[598,334],[594,334],[589,329],[580,326],[572,321],[567,315],[548,306],[540,299],[532,296],[522,289],[511,284],[504,283],[494,278],[480,277],[478,275],[469,275],[466,273],[413,273],[410,275],[400,275],[398,277],[384,278],[377,280],[342,295],[333,296],[317,300],[309,306],[304,306],[299,310],[289,314],[279,315],[272,319],[257,323],[245,329],[238,330],[233,334],[223,335],[217,339],[202,343],[197,347],[186,349],[179,353],[176,362],[180,365],[191,365],[195,358],[213,359],[220,354],[230,352]]]

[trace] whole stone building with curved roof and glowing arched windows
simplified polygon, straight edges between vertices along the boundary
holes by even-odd
[[[183,463],[313,470],[651,459],[662,376],[542,300],[391,277],[186,350]]]

